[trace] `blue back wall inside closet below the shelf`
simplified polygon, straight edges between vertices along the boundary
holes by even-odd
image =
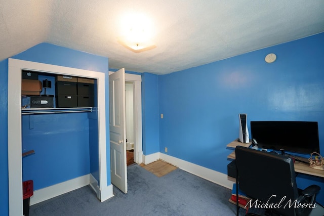
[[[23,115],[22,149],[35,151],[22,159],[34,190],[89,174],[88,113]]]

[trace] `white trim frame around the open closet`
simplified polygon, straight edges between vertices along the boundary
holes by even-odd
[[[98,88],[98,131],[99,131],[99,192],[97,197],[104,201],[113,196],[112,187],[107,185],[106,156],[106,105],[105,73],[69,68],[18,59],[8,60],[8,179],[9,215],[23,215],[22,200],[22,135],[21,135],[21,69],[83,76],[97,79]]]

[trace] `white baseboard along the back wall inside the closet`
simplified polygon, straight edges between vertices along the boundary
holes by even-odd
[[[85,175],[75,179],[68,180],[56,185],[52,185],[47,188],[42,188],[35,190],[33,195],[30,197],[30,205],[36,204],[38,202],[43,202],[45,200],[54,198],[56,196],[62,195],[64,193],[73,191],[75,189],[84,187],[90,184],[90,176]]]

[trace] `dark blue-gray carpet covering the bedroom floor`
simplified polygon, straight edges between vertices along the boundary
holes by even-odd
[[[176,169],[156,177],[138,164],[128,166],[128,193],[100,202],[90,186],[30,206],[30,216],[47,215],[236,215],[231,190]],[[245,215],[240,209],[239,215]]]

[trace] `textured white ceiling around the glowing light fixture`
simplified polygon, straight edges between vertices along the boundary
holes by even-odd
[[[125,14],[153,23],[156,48],[117,42]],[[0,0],[0,61],[42,42],[166,74],[324,32],[323,0]]]

